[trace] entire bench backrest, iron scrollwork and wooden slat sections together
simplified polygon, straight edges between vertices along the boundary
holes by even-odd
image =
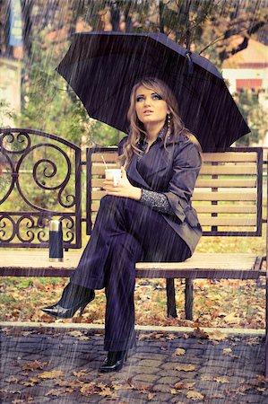
[[[117,147],[86,154],[44,132],[0,129],[0,248],[48,247],[51,218],[63,222],[65,248],[82,246],[105,193],[101,154],[117,167]],[[203,154],[193,196],[203,235],[261,235],[262,187],[262,148]]]

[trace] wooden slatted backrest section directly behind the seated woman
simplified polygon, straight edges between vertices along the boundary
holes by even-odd
[[[108,168],[117,167],[117,148],[88,150],[91,171],[89,207],[94,223],[104,178],[102,157]],[[193,206],[203,235],[261,235],[263,195],[263,149],[229,148],[222,153],[204,153],[196,181]]]

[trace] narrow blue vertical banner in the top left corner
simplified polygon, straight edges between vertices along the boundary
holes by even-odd
[[[12,47],[21,47],[22,46],[21,0],[11,0],[11,2],[10,2],[9,45]]]

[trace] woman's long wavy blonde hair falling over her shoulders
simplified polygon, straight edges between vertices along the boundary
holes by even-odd
[[[167,102],[168,108],[170,110],[170,127],[164,139],[164,145],[166,147],[168,137],[172,139],[177,139],[181,135],[187,136],[195,145],[197,145],[200,153],[202,152],[201,145],[199,144],[196,137],[185,127],[182,119],[178,115],[177,100],[169,89],[168,85],[162,82],[158,78],[144,78],[138,83],[134,84],[134,87],[130,96],[130,107],[127,112],[127,118],[130,123],[130,133],[123,147],[123,154],[119,157],[121,164],[125,167],[131,162],[134,154],[140,154],[141,151],[138,148],[138,144],[141,140],[141,136],[147,135],[143,123],[138,119],[135,110],[135,96],[138,87],[143,85],[144,87],[152,90],[160,95],[160,97]]]

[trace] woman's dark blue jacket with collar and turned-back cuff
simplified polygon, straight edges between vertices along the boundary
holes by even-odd
[[[121,140],[118,153],[122,154],[127,137]],[[164,193],[175,218],[163,215],[169,225],[186,242],[192,253],[202,235],[202,229],[191,197],[201,169],[201,156],[197,146],[186,136],[168,140],[166,148],[159,137],[143,155],[137,170],[138,156],[134,154],[126,169],[129,181],[136,187]]]

